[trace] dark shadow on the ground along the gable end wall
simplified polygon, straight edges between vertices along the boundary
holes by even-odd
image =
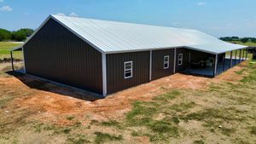
[[[63,84],[54,83],[41,78],[36,78],[22,72],[9,71],[7,74],[19,79],[21,83],[26,84],[31,89],[44,90],[51,93],[70,96],[84,101],[96,101],[104,98],[102,95],[97,95],[82,89],[76,89]]]

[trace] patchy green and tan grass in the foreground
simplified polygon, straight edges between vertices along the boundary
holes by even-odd
[[[4,71],[9,70],[1,66]],[[59,121],[55,117],[53,122],[45,121],[46,113],[40,107],[32,111],[31,105],[16,105],[15,101],[22,98],[25,101],[38,90],[17,83],[8,85],[13,76],[3,73],[0,75],[0,143],[254,144],[256,64],[239,67],[241,70],[235,74],[241,80],[233,83],[219,81],[207,89],[163,87],[166,92],[150,101],[134,101],[131,111],[122,118],[95,120],[85,113],[79,117],[67,114],[61,124],[53,123]]]

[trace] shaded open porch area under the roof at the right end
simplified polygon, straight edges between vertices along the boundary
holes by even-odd
[[[247,48],[236,49],[222,54],[209,54],[188,50],[188,54],[188,65],[184,72],[206,77],[215,77],[247,60]]]

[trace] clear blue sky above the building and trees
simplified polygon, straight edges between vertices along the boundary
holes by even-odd
[[[256,37],[256,0],[0,0],[0,27],[37,28],[49,14]]]

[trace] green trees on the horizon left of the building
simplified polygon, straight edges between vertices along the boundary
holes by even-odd
[[[33,32],[34,30],[30,28],[22,28],[14,32],[0,28],[0,41],[25,41]]]

